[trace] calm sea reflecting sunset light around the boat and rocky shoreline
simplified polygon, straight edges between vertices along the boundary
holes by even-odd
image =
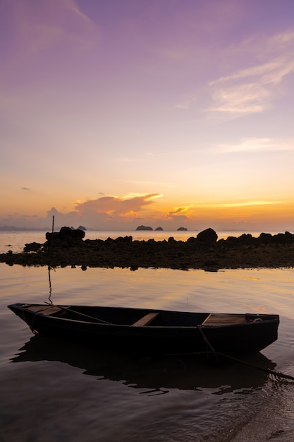
[[[243,232],[217,232],[219,238]],[[252,232],[253,236],[259,233]],[[0,253],[45,232],[0,232]],[[197,232],[85,232],[185,241]],[[242,361],[152,357],[33,335],[16,302],[278,313],[278,340]],[[1,442],[294,441],[294,268],[23,267],[0,263]],[[246,363],[246,364],[245,364]],[[247,364],[250,364],[247,365]]]

